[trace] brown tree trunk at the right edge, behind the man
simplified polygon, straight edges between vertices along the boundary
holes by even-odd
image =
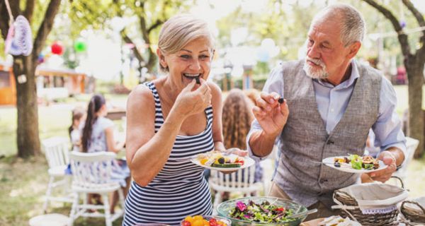
[[[424,113],[422,111],[422,84],[424,84],[424,64],[418,64],[419,57],[404,61],[409,80],[409,131],[407,136],[419,140],[415,158],[424,153]]]

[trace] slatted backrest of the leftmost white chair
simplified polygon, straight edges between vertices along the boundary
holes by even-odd
[[[54,136],[41,141],[49,167],[59,167],[69,164],[69,138]]]

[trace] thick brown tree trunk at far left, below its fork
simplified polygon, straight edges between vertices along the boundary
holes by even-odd
[[[18,157],[39,155],[38,105],[35,87],[35,64],[32,55],[13,59],[16,81],[16,108],[18,110]],[[25,81],[26,79],[26,81]]]

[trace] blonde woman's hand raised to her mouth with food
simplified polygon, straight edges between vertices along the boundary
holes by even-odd
[[[198,88],[196,88],[198,86]],[[174,107],[184,117],[203,112],[211,105],[211,90],[207,82],[200,78],[200,85],[193,79],[177,96]],[[173,107],[173,108],[174,108]]]

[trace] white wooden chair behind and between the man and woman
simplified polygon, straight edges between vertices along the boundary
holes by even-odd
[[[231,174],[223,174],[216,170],[211,170],[208,183],[212,192],[215,193],[213,209],[215,210],[222,202],[222,192],[239,192],[244,196],[258,196],[263,189],[262,182],[254,183],[255,164],[245,169],[239,169]]]

